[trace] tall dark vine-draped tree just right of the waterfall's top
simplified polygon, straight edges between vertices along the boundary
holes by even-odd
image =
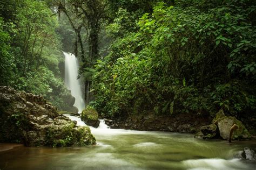
[[[80,47],[80,59],[83,62],[80,68],[80,75],[86,72],[86,69],[93,66],[93,62],[99,58],[99,32],[103,18],[105,17],[105,1],[103,0],[78,0],[78,1],[57,1],[58,15],[63,12],[68,17],[73,30],[77,34],[75,42],[75,54],[78,56],[78,44]],[[83,39],[81,31],[85,30],[87,36],[88,50],[87,57],[85,56]],[[90,101],[90,80],[85,80],[85,95],[86,103]]]

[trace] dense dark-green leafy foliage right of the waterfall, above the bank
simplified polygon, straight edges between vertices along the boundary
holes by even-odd
[[[123,14],[127,10],[119,10],[108,27],[117,39],[96,65],[92,104],[99,112],[211,114],[224,108],[241,116],[255,111],[253,2],[187,4],[158,3],[136,24]],[[123,18],[138,31],[126,31]]]

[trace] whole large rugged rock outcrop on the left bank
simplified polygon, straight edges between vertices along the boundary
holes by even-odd
[[[59,115],[42,96],[0,87],[0,143],[84,146],[96,141],[89,127]]]

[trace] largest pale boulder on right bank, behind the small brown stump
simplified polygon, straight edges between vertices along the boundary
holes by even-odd
[[[251,139],[251,134],[237,118],[224,116],[219,118],[217,121],[221,138],[228,139],[231,127],[233,124],[236,124],[238,125],[238,129],[234,131],[232,140]]]

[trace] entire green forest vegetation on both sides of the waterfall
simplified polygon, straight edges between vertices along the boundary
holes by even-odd
[[[222,108],[255,118],[254,1],[11,0],[0,9],[0,85],[63,108],[65,50],[101,116]]]

